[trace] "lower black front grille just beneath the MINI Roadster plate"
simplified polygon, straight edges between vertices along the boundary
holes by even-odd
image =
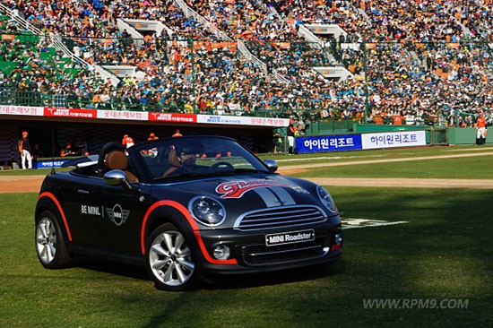
[[[307,243],[282,246],[248,245],[242,247],[243,261],[247,265],[265,265],[274,263],[290,263],[327,254],[329,241],[320,237]]]

